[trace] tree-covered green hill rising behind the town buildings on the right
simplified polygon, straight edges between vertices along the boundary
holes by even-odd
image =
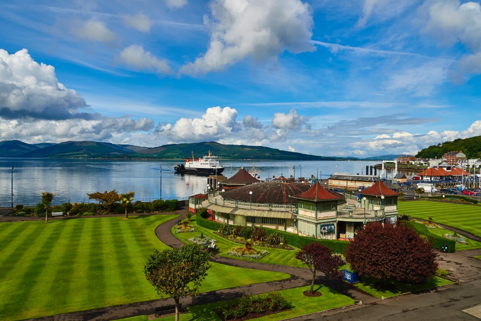
[[[458,138],[431,145],[416,154],[418,158],[440,158],[448,151],[462,150],[467,158],[481,158],[481,136]]]

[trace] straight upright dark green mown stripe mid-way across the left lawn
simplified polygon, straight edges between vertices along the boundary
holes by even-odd
[[[90,222],[91,221],[91,222]],[[89,247],[89,254],[87,256],[86,269],[88,278],[86,280],[89,305],[94,302],[101,302],[104,300],[106,284],[104,282],[104,243],[106,230],[104,225],[107,220],[103,218],[90,219],[90,235],[85,240]],[[112,271],[111,271],[112,272]]]

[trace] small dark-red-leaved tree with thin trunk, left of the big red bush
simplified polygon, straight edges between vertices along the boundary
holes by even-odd
[[[304,245],[296,253],[296,258],[306,264],[312,272],[311,294],[314,293],[316,271],[322,272],[328,277],[340,278],[339,268],[345,264],[340,255],[332,255],[331,249],[319,242]]]

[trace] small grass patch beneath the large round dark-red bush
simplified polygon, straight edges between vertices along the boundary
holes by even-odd
[[[396,290],[389,291],[389,290],[378,290],[374,288],[374,284],[378,282],[379,280],[373,279],[373,278],[367,278],[363,277],[362,282],[359,283],[354,283],[353,285],[360,288],[361,290],[374,295],[377,298],[381,297],[390,297],[406,292],[417,292],[417,291],[422,291],[425,289],[433,288],[436,286],[441,286],[441,285],[446,285],[446,284],[451,284],[453,283],[452,281],[443,279],[442,277],[439,276],[432,276],[427,280],[426,283],[424,284],[406,284],[406,283],[401,283],[397,281],[389,281],[393,284],[396,285]]]

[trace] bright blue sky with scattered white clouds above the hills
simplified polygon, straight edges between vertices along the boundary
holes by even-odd
[[[0,139],[415,154],[481,135],[481,6],[0,3]]]

